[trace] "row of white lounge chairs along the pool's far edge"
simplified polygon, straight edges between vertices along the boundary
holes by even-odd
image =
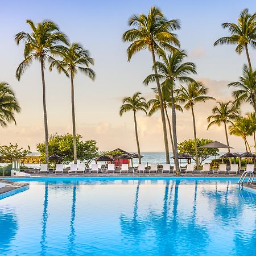
[[[64,170],[64,164],[56,164],[56,169],[53,170],[55,174],[63,174]],[[242,170],[242,169],[241,169]],[[126,172],[128,173],[129,171],[132,172],[137,172],[137,174],[141,174],[146,172],[146,165],[145,164],[139,164],[138,168],[132,168],[129,169],[128,164],[122,164],[121,169],[115,168],[114,164],[108,164],[106,168],[100,168],[98,164],[92,164],[92,168],[85,168],[85,164],[71,164],[70,169],[68,170],[68,174],[84,174],[84,172],[90,172],[92,174],[93,172],[106,172],[106,174],[109,173],[114,173],[114,172],[119,172],[123,173]],[[170,164],[163,164],[163,168],[159,169],[158,164],[151,164],[151,168],[148,170],[148,173],[158,173],[162,172],[163,173],[168,173],[170,174],[175,173],[176,168],[175,166],[171,168]],[[181,168],[181,172],[184,171],[185,174],[188,174],[191,172],[195,172],[195,166],[193,164],[187,164],[186,168]],[[212,172],[213,174],[237,174],[240,170],[238,169],[238,164],[231,164],[230,170],[227,170],[226,164],[220,164],[220,167],[218,169],[210,169],[210,164],[204,164],[203,169],[200,170],[201,174],[209,174]],[[254,171],[254,165],[253,164],[247,164],[246,170],[243,171]],[[35,170],[34,170],[35,172]],[[39,169],[40,174],[47,174],[49,172],[48,170],[48,165],[47,164],[41,164],[41,167]]]

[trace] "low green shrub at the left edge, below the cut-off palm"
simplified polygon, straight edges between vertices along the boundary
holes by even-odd
[[[31,154],[30,147],[28,149],[19,148],[18,144],[11,144],[9,146],[0,146],[1,162],[10,163],[13,159],[24,158],[27,154]]]

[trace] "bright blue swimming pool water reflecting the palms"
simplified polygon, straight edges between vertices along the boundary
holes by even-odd
[[[237,179],[50,178],[0,200],[0,255],[255,255]]]

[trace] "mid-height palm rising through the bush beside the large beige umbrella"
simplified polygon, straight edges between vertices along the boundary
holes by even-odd
[[[183,85],[180,86],[178,91],[179,101],[185,103],[185,109],[191,109],[193,118],[193,130],[195,138],[195,151],[196,151],[196,167],[199,167],[198,151],[197,151],[197,137],[196,137],[196,119],[194,113],[194,105],[197,102],[205,102],[207,100],[215,100],[213,97],[205,96],[207,94],[208,88],[206,88],[201,82],[190,82],[185,88]]]

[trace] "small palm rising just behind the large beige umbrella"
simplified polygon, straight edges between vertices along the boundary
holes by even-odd
[[[237,109],[236,106],[232,104],[232,101],[217,101],[217,104],[218,105],[214,106],[214,108],[212,109],[212,115],[209,115],[209,117],[207,118],[207,130],[209,129],[210,126],[221,126],[221,124],[223,123],[225,128],[226,144],[229,146],[227,125],[229,123],[233,123],[233,121],[236,120],[236,118],[239,116],[239,110]],[[230,148],[228,148],[228,152],[230,152]]]

